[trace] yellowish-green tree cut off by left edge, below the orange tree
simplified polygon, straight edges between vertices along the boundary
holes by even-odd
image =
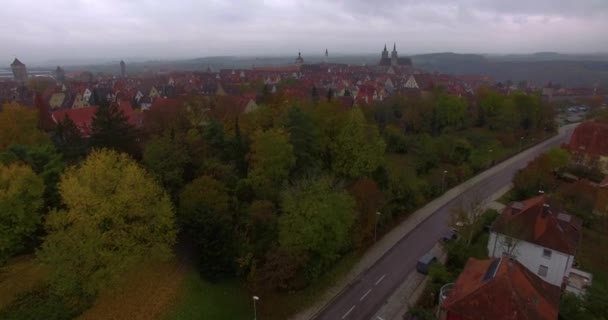
[[[0,165],[0,265],[24,248],[40,223],[44,183],[28,166]]]

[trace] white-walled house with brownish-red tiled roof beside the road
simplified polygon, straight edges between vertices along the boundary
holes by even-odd
[[[581,239],[581,221],[543,194],[507,206],[488,241],[490,257],[512,257],[555,286],[567,284]]]

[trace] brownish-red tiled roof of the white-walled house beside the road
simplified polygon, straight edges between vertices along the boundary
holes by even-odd
[[[580,230],[580,220],[551,206],[545,195],[512,203],[494,224],[498,233],[570,255],[576,253]]]

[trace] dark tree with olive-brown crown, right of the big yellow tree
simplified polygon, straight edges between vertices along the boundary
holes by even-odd
[[[179,198],[179,224],[196,244],[205,276],[215,278],[234,271],[233,221],[226,186],[202,176],[184,187]]]

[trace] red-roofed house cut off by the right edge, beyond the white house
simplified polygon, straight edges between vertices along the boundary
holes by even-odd
[[[577,165],[597,168],[608,174],[608,123],[583,122],[574,129],[568,149]]]

